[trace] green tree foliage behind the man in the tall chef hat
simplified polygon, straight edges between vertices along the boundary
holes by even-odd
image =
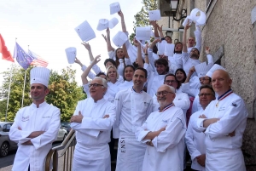
[[[30,70],[32,66],[25,71],[20,66],[13,65],[12,69],[3,72],[3,85],[0,88],[0,119],[5,120],[5,112],[7,105],[7,98],[9,93],[9,77],[11,77],[9,106],[7,113],[7,120],[14,121],[16,112],[21,108],[22,92],[24,84],[24,76],[26,72],[26,86],[24,94],[23,106],[31,105],[30,98]],[[68,121],[73,115],[75,106],[78,100],[83,100],[86,95],[83,94],[83,89],[75,82],[75,71],[67,68],[62,69],[61,74],[52,71],[49,77],[50,93],[46,96],[46,102],[55,105],[61,110],[61,121]]]

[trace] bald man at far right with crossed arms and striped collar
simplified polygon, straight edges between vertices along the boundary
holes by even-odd
[[[192,127],[206,134],[206,170],[245,171],[241,152],[242,135],[247,124],[247,109],[240,96],[231,89],[227,71],[212,74],[212,88],[218,94]],[[194,127],[195,125],[195,127]]]

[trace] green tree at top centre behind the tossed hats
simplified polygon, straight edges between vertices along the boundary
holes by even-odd
[[[136,27],[137,26],[148,26],[149,25],[149,17],[148,10],[157,9],[157,1],[156,0],[143,0],[143,8],[134,15],[135,21],[133,21],[133,33],[129,37],[131,43],[133,43],[133,38],[135,37]]]

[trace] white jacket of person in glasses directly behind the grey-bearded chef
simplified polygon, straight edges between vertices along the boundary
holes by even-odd
[[[157,102],[157,97],[155,95],[153,97],[153,104],[154,104],[153,111],[158,111],[158,108],[160,107],[160,105]],[[176,107],[179,107],[183,110],[184,117],[186,118],[186,113],[187,113],[187,111],[189,109],[189,106],[190,106],[189,95],[184,94],[184,93],[176,93],[176,96],[173,100],[173,104]]]

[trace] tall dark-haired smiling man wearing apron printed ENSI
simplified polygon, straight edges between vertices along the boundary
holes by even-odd
[[[143,91],[147,71],[138,67],[133,75],[133,86],[116,94],[116,122],[113,138],[119,138],[116,171],[141,171],[146,145],[138,142],[135,131],[152,112],[152,98]]]

